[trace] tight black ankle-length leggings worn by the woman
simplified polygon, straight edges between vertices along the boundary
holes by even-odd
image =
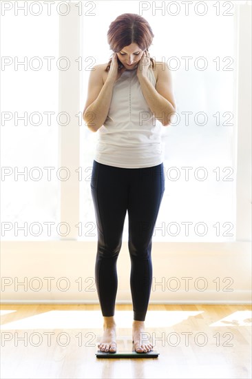
[[[95,282],[102,314],[114,316],[116,261],[128,211],[134,320],[145,321],[152,283],[152,235],[165,192],[163,163],[121,168],[94,161],[90,186],[98,232]]]

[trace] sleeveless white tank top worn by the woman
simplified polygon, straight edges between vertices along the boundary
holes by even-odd
[[[137,67],[125,70],[114,83],[104,124],[98,129],[94,160],[123,168],[152,167],[164,161],[162,123],[149,109],[136,76]],[[154,88],[153,70],[148,78]]]

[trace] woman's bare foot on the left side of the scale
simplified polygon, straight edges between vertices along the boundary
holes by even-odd
[[[116,352],[116,322],[113,317],[104,317],[103,336],[98,347],[101,351]]]

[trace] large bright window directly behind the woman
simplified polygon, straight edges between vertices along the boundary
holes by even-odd
[[[149,52],[172,70],[177,114],[172,125],[163,127],[165,145],[165,194],[153,240],[213,242],[235,239],[235,57],[234,9],[220,8],[212,1],[186,15],[177,8],[154,8],[140,13],[138,2],[96,1],[92,12],[83,16],[83,101],[91,68],[109,61],[107,30],[119,14],[141,14],[154,32]],[[173,2],[175,3],[175,2]],[[231,4],[228,2],[229,5]],[[151,3],[149,3],[151,6]],[[175,6],[174,6],[175,7]],[[109,13],[106,12],[109,9]],[[163,14],[162,14],[163,12]],[[178,12],[178,14],[175,14]],[[197,14],[198,13],[198,14]],[[106,14],[106,16],[105,16]],[[92,38],[90,38],[90,31]],[[188,66],[187,66],[188,65]],[[87,68],[89,67],[89,68]],[[81,183],[81,218],[85,240],[96,240],[96,222],[90,192],[90,176],[96,133],[85,124],[81,129],[81,166],[87,170]],[[128,237],[125,218],[123,239]]]

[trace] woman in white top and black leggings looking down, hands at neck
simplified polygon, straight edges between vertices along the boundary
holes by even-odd
[[[152,283],[151,239],[165,191],[160,130],[169,125],[176,107],[169,69],[149,57],[153,37],[138,14],[121,14],[109,25],[107,40],[114,54],[90,73],[83,111],[87,127],[99,133],[90,185],[98,230],[95,280],[104,320],[101,351],[116,351],[116,261],[126,212],[132,339],[138,353],[153,347],[140,336]]]

